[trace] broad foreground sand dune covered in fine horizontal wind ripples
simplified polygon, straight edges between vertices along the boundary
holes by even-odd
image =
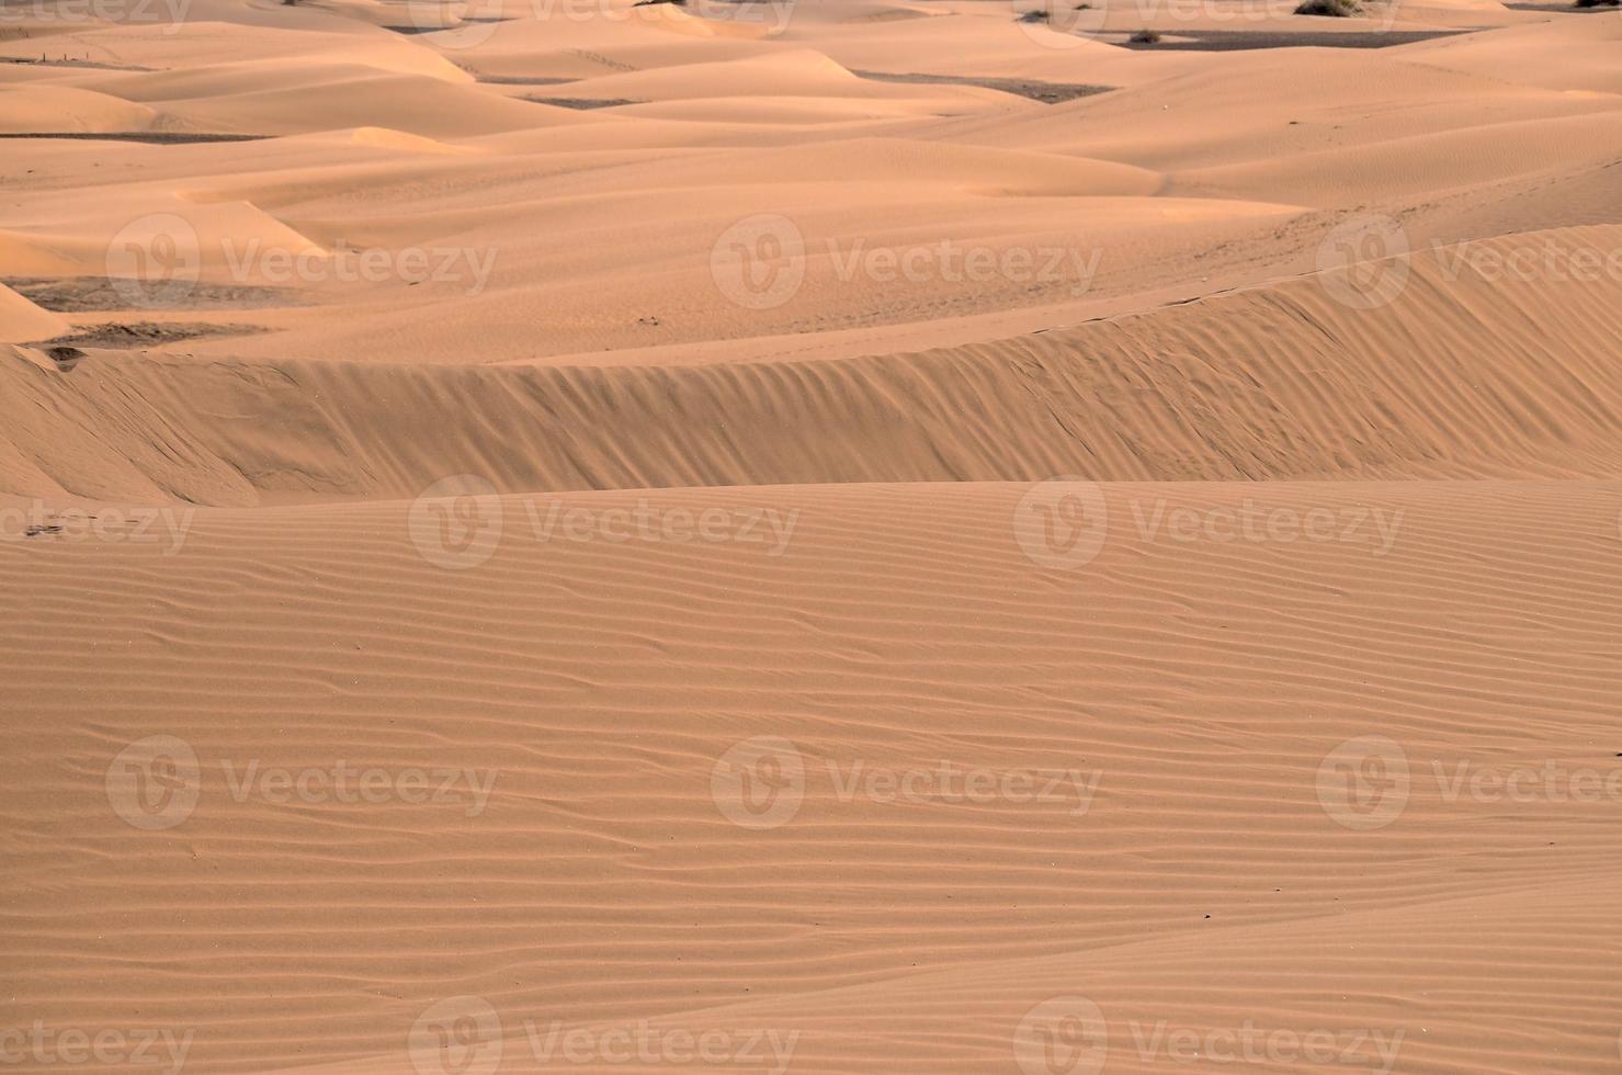
[[[1153,1067],[1127,1018],[1247,1013],[1406,1031],[1403,1070],[1555,1047],[1607,1070],[1611,809],[1450,803],[1431,760],[1611,759],[1619,490],[1109,486],[1080,571],[1020,555],[1025,486],[1006,485],[561,501],[800,512],[780,555],[542,542],[526,504],[543,525],[543,496],[501,501],[491,558],[462,571],[423,561],[438,538],[406,504],[203,511],[178,556],[31,545],[0,626],[8,812],[54,811],[21,814],[10,856],[78,882],[8,898],[13,966],[58,1021],[195,1020],[193,1064],[222,1070],[409,1070],[414,1020],[469,994],[517,1034],[741,1020],[801,1030],[803,1070],[1015,1070],[1023,1012],[1072,992],[1113,1017],[1111,1070]],[[1372,524],[1314,543],[1139,524],[1246,501],[1384,512],[1390,545]],[[107,637],[130,642],[86,666]],[[65,709],[94,717],[42,731]],[[133,832],[104,770],[157,731],[193,746],[203,793],[178,827]],[[1325,754],[1372,733],[1414,769],[1384,837],[1314,790]],[[717,759],[751,736],[808,759],[777,829],[712,799]],[[237,803],[221,769],[334,757],[496,780],[469,816],[470,791]],[[1100,778],[1075,814],[845,801],[826,769],[941,759]],[[1528,978],[1551,978],[1530,1009]]]

